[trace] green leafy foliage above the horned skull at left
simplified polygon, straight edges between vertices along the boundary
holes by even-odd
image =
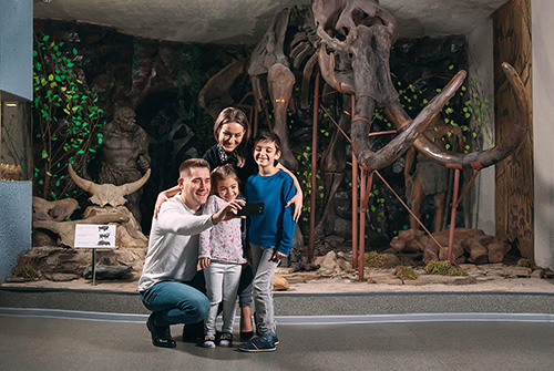
[[[79,51],[35,37],[34,91],[34,189],[43,198],[75,197],[66,166],[82,168],[102,143],[105,124],[98,97],[79,79]]]

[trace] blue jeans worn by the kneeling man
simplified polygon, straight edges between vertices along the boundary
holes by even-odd
[[[141,292],[148,310],[156,312],[155,326],[196,323],[209,311],[209,300],[194,287],[176,281],[157,282]]]

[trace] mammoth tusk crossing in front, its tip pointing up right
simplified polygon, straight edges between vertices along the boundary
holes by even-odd
[[[355,151],[358,161],[366,165],[369,169],[379,169],[389,166],[398,157],[400,157],[408,147],[414,143],[414,141],[420,136],[420,134],[425,130],[425,127],[431,123],[437,116],[437,114],[442,110],[442,106],[455,94],[456,90],[461,86],[465,79],[465,71],[460,71],[458,74],[448,83],[447,86],[441,91],[440,94],[434,96],[431,102],[419,113],[419,115],[413,120],[413,122],[406,121],[409,124],[406,127],[401,127],[401,133],[397,135],[392,141],[390,141],[384,147],[378,152],[371,152],[369,145],[363,146],[362,151],[357,153],[357,146],[355,141],[355,123],[352,123],[352,150]],[[397,101],[398,105],[400,105]],[[355,118],[356,120],[356,118]],[[361,135],[366,135],[363,143],[367,142],[367,132],[360,131]],[[361,142],[361,137],[358,134],[357,141]],[[359,143],[360,143],[359,142]]]

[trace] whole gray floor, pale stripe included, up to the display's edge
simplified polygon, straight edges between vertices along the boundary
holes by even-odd
[[[271,353],[152,346],[136,292],[0,288],[0,370],[554,370],[554,295],[276,293]]]

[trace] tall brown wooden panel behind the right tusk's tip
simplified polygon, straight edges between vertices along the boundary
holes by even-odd
[[[494,134],[496,142],[513,132],[515,113],[521,110],[502,69],[510,63],[520,74],[531,103],[533,100],[531,4],[511,0],[493,13],[494,30]],[[520,147],[495,165],[495,235],[507,239],[522,257],[534,256],[533,113],[529,134]]]

